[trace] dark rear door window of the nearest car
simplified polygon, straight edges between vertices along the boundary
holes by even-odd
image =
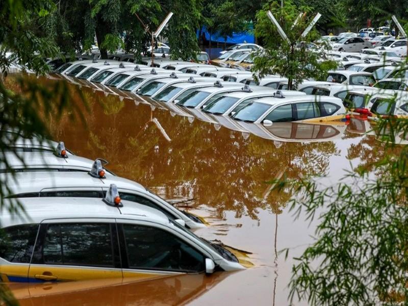
[[[45,235],[41,241],[37,241],[33,264],[115,267],[111,224],[62,223],[43,226]]]

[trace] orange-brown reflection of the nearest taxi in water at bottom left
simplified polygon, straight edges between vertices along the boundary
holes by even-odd
[[[225,279],[228,273],[181,274],[151,281],[92,279],[91,281],[17,284],[8,287],[21,306],[25,305],[129,305],[171,304],[193,301]],[[85,293],[85,294],[84,294]]]

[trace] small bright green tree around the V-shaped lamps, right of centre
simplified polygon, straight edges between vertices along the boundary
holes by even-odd
[[[289,41],[279,36],[275,26],[266,15],[268,10],[281,24]],[[258,12],[258,22],[255,28],[256,35],[264,41],[265,49],[254,58],[252,70],[259,72],[260,78],[268,74],[286,77],[289,80],[289,89],[296,88],[297,84],[305,79],[322,79],[328,70],[337,67],[334,61],[321,60],[324,56],[324,46],[320,49],[308,47],[308,43],[319,36],[315,30],[301,38],[311,18],[306,18],[303,14],[293,26],[300,12],[314,17],[310,8],[298,8],[291,0],[286,0],[283,8],[276,2],[268,2]]]

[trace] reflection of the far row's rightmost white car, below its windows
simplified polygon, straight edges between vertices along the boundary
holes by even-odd
[[[259,137],[282,142],[323,142],[340,139],[347,124],[310,124],[275,122],[270,126],[259,123],[238,122],[248,132]]]

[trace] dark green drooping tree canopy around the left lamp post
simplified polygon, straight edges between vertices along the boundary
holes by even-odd
[[[54,12],[53,29],[60,34],[56,39],[66,52],[89,49],[96,35],[104,59],[119,47],[140,56],[151,37],[135,13],[155,31],[170,11],[174,15],[162,35],[174,46],[172,56],[186,60],[198,50],[195,29],[201,6],[195,0],[75,0],[74,5],[71,0],[61,0]]]

